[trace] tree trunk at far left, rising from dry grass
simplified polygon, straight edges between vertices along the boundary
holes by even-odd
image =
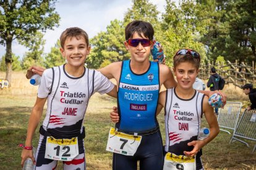
[[[6,39],[6,79],[9,81],[9,87],[12,84],[12,36]]]

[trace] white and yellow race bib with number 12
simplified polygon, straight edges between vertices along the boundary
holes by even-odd
[[[54,139],[47,137],[45,158],[60,161],[72,161],[79,155],[77,137],[72,139]]]

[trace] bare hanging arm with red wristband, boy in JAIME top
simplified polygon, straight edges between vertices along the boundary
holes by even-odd
[[[32,139],[33,139],[33,135],[35,134],[35,129],[38,126],[38,123],[40,121],[41,115],[43,113],[43,106],[45,105],[47,98],[36,98],[36,102],[35,105],[32,109],[32,113],[30,115],[30,118],[28,120],[28,129],[27,129],[27,139],[25,142],[25,146],[26,147],[32,147]],[[21,165],[23,167],[24,161],[27,158],[31,158],[33,163],[35,164],[35,158],[33,156],[33,152],[32,150],[26,150],[23,149],[22,150],[22,161],[21,161]]]

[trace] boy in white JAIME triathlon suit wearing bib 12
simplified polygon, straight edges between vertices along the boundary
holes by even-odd
[[[84,67],[90,53],[88,35],[80,28],[68,28],[60,37],[61,54],[67,63],[44,71],[38,97],[28,121],[22,161],[32,158],[35,169],[56,169],[61,160],[64,169],[85,169],[83,118],[92,94],[116,97],[116,87],[99,71]],[[33,158],[32,139],[46,99],[47,111],[40,127],[40,139]]]

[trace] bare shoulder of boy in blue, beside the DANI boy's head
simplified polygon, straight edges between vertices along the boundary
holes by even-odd
[[[160,83],[164,84],[164,87],[166,89],[176,87],[177,82],[174,79],[173,73],[171,72],[171,69],[167,65],[160,64],[159,65],[160,69]]]

